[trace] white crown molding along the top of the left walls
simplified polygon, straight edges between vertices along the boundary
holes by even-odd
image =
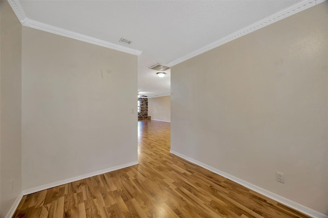
[[[130,49],[130,48],[127,48],[124,46],[116,45],[109,41],[97,39],[97,38],[94,38],[91,36],[72,32],[72,31],[69,31],[66,29],[62,29],[59,27],[44,24],[44,23],[41,23],[41,22],[33,20],[33,19],[29,19],[26,16],[26,14],[18,0],[8,0],[8,2],[10,4],[11,8],[13,9],[13,11],[15,12],[17,18],[19,19],[20,23],[22,23],[22,25],[25,27],[42,30],[42,31],[49,32],[49,33],[54,33],[56,35],[73,38],[73,39],[88,42],[88,43],[91,43],[91,44],[94,44],[97,46],[102,46],[102,47],[114,49],[114,50],[121,51],[121,52],[126,52],[126,53],[137,55],[137,56],[139,56],[142,53],[142,51],[139,51],[136,49]]]

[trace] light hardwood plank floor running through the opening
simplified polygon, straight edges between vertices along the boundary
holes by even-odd
[[[169,150],[170,123],[138,121],[138,165],[25,195],[14,217],[308,217]]]

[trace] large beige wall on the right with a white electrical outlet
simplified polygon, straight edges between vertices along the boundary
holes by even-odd
[[[324,2],[172,67],[172,151],[328,215],[327,20]]]

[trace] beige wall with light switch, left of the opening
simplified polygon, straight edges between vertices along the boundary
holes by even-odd
[[[137,56],[23,27],[22,57],[23,190],[137,161]]]

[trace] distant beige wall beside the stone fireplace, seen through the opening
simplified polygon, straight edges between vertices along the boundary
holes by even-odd
[[[170,96],[148,98],[148,116],[152,120],[171,122]]]

